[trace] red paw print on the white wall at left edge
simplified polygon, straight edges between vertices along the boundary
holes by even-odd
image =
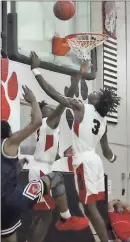
[[[1,119],[8,120],[11,114],[11,102],[18,94],[18,81],[15,72],[9,73],[9,60],[1,59]]]

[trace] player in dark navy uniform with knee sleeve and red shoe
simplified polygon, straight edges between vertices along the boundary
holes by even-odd
[[[18,148],[20,143],[35,132],[42,124],[39,105],[27,87],[23,87],[24,99],[32,106],[32,120],[23,130],[14,134],[7,121],[2,120],[2,241],[16,241],[15,231],[21,225],[20,214],[32,208],[43,195],[52,190],[62,220],[59,230],[80,230],[88,226],[88,219],[72,217],[67,206],[67,198],[62,175],[50,173],[41,179],[31,181],[25,188],[17,184]],[[65,216],[65,219],[64,219]],[[67,217],[67,218],[66,218]],[[8,237],[8,238],[7,238]]]

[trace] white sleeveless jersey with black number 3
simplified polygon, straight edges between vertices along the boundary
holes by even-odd
[[[85,104],[81,123],[73,124],[72,142],[74,156],[87,151],[95,151],[97,143],[106,130],[106,119],[101,117],[91,104]]]

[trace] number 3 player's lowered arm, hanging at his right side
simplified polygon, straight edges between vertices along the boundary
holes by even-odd
[[[102,148],[102,153],[104,155],[104,157],[109,160],[111,163],[113,163],[117,156],[113,154],[109,143],[108,143],[108,138],[107,138],[107,127],[106,127],[106,132],[104,133],[104,135],[102,136],[101,140],[100,140],[100,144],[101,144],[101,148]]]

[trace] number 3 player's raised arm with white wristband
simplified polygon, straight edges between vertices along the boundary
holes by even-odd
[[[64,105],[65,107],[72,108],[72,109],[80,109],[81,103],[78,102],[77,100],[69,97],[65,97],[61,95],[61,93],[57,92],[55,88],[53,88],[50,84],[46,82],[46,80],[41,76],[40,71],[38,70],[40,66],[40,60],[38,56],[32,52],[31,53],[31,69],[32,72],[41,86],[41,88],[47,93],[48,96],[50,96],[52,99],[55,101],[59,102],[60,104]]]

